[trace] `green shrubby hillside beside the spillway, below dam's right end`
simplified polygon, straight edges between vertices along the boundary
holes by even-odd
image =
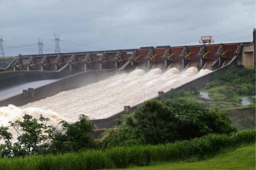
[[[250,87],[250,88],[247,88]],[[239,89],[239,90],[238,90]],[[245,90],[244,90],[245,89]],[[209,94],[203,99],[199,92]],[[203,108],[229,113],[232,125],[237,130],[255,128],[255,69],[230,67],[218,73],[206,88],[190,91],[172,89],[168,99],[181,99],[186,102],[197,101]],[[250,105],[242,105],[242,97],[247,96]]]

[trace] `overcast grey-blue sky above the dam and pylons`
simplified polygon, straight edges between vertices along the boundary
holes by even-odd
[[[6,56],[253,39],[255,0],[0,0]],[[72,44],[72,43],[76,44]],[[94,48],[97,47],[97,48]]]

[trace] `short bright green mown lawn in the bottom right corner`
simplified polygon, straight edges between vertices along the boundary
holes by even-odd
[[[124,170],[255,170],[255,144],[221,153],[204,161],[168,163]]]

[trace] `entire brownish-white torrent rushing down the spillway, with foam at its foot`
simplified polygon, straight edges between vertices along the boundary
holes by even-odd
[[[136,69],[130,74],[118,74],[108,79],[86,85],[70,91],[63,91],[54,96],[29,103],[20,108],[13,105],[0,108],[0,123],[21,119],[23,114],[49,117],[53,124],[61,119],[77,121],[79,114],[90,119],[101,119],[123,110],[124,105],[136,105],[154,96],[158,91],[168,91],[186,82],[196,79],[209,70],[188,68],[183,73],[177,68],[170,68],[165,73],[154,68],[145,74]]]

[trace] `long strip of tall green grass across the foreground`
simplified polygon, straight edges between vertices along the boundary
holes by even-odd
[[[116,147],[107,150],[87,150],[27,158],[0,159],[0,170],[92,170],[144,166],[152,162],[199,159],[229,147],[255,143],[255,130],[243,130],[230,135],[210,134],[190,141],[166,145]]]

